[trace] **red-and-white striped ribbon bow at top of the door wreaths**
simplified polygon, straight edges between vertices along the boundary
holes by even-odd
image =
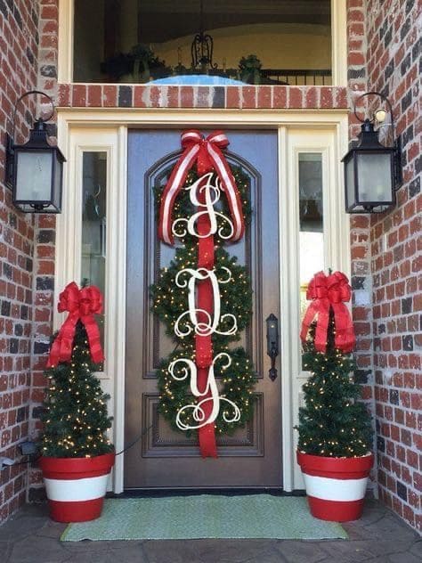
[[[232,241],[242,238],[245,225],[239,191],[234,181],[231,169],[221,151],[228,146],[229,140],[223,131],[214,131],[207,138],[197,131],[191,129],[182,134],[183,154],[177,161],[168,179],[166,188],[161,199],[159,210],[158,237],[166,244],[173,244],[172,233],[172,211],[174,200],[186,181],[186,176],[191,167],[197,162],[199,176],[215,170],[218,175],[223,192],[229,202],[231,218],[234,225]]]

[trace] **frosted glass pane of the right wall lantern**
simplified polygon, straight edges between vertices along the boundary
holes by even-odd
[[[368,152],[357,154],[359,200],[392,200],[392,173],[390,152]]]

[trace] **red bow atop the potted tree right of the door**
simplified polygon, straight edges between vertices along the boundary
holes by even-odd
[[[329,276],[323,272],[315,273],[306,291],[306,298],[312,299],[312,303],[304,314],[300,332],[302,341],[306,340],[309,327],[316,317],[315,349],[318,352],[326,351],[331,308],[336,327],[334,345],[345,354],[352,352],[356,338],[349,310],[345,306],[345,301],[350,301],[351,295],[352,289],[344,273],[335,272]]]

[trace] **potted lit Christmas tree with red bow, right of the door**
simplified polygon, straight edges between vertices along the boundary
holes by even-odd
[[[297,462],[312,516],[337,522],[361,517],[374,458],[369,412],[352,376],[350,295],[345,274],[315,274],[301,331],[303,366],[311,377],[299,409]]]

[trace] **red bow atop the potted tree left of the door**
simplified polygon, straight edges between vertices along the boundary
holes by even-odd
[[[51,368],[59,362],[70,362],[78,321],[85,326],[93,362],[102,362],[104,355],[101,348],[100,330],[98,330],[98,325],[93,317],[93,314],[101,314],[102,312],[101,291],[94,285],[79,290],[77,284],[71,282],[61,292],[57,308],[59,313],[69,311],[69,315],[53,341],[47,360],[47,368]]]

